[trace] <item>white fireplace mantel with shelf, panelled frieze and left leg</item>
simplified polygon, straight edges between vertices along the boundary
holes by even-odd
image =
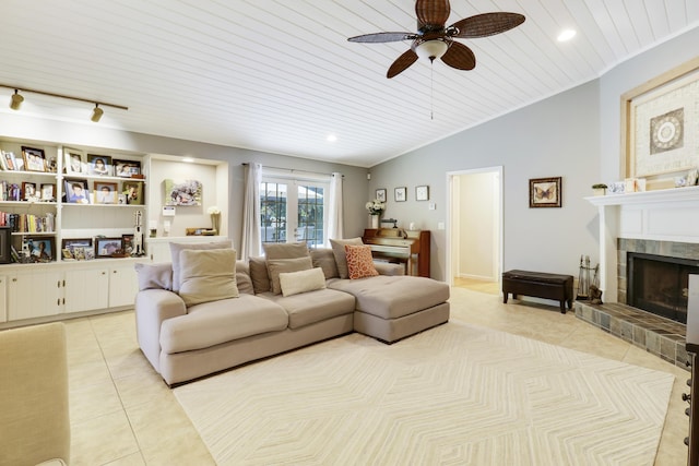
[[[600,211],[600,288],[617,299],[617,238],[699,243],[699,187],[585,198]]]

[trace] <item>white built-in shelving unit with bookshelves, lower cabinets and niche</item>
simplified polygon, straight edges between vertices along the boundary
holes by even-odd
[[[0,136],[0,156],[11,153],[22,157],[23,146],[43,152],[47,171],[14,170],[4,165],[0,170],[0,182],[5,181],[20,191],[0,195],[0,212],[14,215],[15,220],[23,218],[21,227],[13,226],[8,241],[17,254],[24,250],[27,256],[22,263],[0,264],[0,328],[128,309],[133,306],[138,291],[135,263],[169,261],[170,241],[227,238],[226,218],[217,236],[186,236],[191,228],[211,228],[209,207],[215,205],[221,212],[228,212],[228,164],[225,162],[197,158],[186,162],[182,157],[162,154]],[[80,168],[68,165],[74,153],[82,157]],[[99,157],[111,162],[111,171],[104,175],[91,171],[88,164]],[[138,172],[117,176],[117,162],[139,167]],[[176,215],[165,216],[162,207],[168,202],[164,183],[170,179],[200,181],[203,186],[201,205],[175,206]],[[90,193],[85,203],[71,198],[74,182]],[[48,194],[49,186],[52,195]],[[104,190],[105,198],[103,187],[108,188]],[[111,194],[107,196],[106,191]],[[109,251],[99,250],[98,241],[133,236],[137,217],[143,234],[142,255],[112,258]],[[28,226],[27,218],[35,222],[34,226]],[[155,237],[151,237],[150,227],[154,227]],[[49,244],[50,254],[42,259],[36,256],[38,252],[32,255],[29,240]],[[83,241],[92,244],[90,255],[95,259],[75,260],[63,255],[62,249]]]

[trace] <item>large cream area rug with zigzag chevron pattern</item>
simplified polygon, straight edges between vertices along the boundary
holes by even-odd
[[[220,465],[652,465],[673,375],[451,321],[175,389]]]

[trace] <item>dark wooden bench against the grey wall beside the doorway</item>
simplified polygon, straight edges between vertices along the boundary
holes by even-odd
[[[560,302],[560,312],[572,309],[572,275],[546,274],[543,272],[509,271],[502,274],[502,302],[507,304],[508,295],[517,299],[518,295],[535,298],[556,299]]]

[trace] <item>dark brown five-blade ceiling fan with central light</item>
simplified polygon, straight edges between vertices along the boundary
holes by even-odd
[[[401,55],[389,68],[387,77],[405,71],[419,57],[441,61],[458,70],[473,70],[476,57],[465,45],[454,39],[487,37],[503,33],[524,22],[519,13],[484,13],[458,21],[445,27],[451,7],[449,0],[416,0],[417,33],[375,33],[350,37],[352,43],[395,43],[413,40],[410,50]]]

